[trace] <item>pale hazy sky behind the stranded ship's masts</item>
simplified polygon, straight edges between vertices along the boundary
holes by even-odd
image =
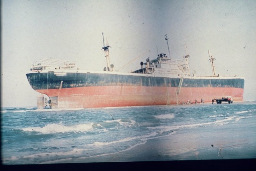
[[[140,61],[168,54],[190,55],[190,70],[244,76],[244,100],[256,99],[255,0],[2,0],[2,107],[36,106],[26,73],[41,58],[75,62],[80,69],[102,71],[110,63],[120,72],[140,68]],[[105,41],[106,43],[106,41]]]

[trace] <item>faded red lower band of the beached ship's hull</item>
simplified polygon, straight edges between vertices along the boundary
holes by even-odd
[[[233,101],[243,101],[244,89],[205,87],[182,87],[176,94],[177,87],[142,87],[142,86],[95,86],[62,89],[36,90],[46,94],[56,105],[52,108],[94,108],[142,105],[170,105],[212,102],[213,98],[232,96]]]

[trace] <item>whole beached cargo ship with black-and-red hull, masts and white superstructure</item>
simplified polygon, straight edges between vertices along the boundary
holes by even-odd
[[[165,40],[168,45],[167,35]],[[212,102],[226,96],[243,101],[245,78],[216,74],[215,58],[209,51],[212,75],[196,76],[195,72],[190,73],[187,52],[181,59],[172,59],[169,45],[169,57],[160,53],[153,60],[140,62],[140,69],[118,72],[110,65],[109,47],[103,37],[107,67],[102,71],[80,70],[66,60],[36,61],[26,75],[31,87],[41,93],[37,108],[178,105]]]

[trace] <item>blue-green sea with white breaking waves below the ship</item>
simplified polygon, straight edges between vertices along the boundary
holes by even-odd
[[[1,157],[4,165],[83,159],[86,162],[87,158],[118,154],[149,140],[172,137],[192,128],[207,132],[241,127],[243,131],[230,133],[246,140],[247,150],[243,148],[238,158],[256,157],[256,102],[76,110],[2,108],[1,117]],[[174,150],[179,153],[178,149]],[[200,148],[196,150],[200,151]],[[226,159],[232,159],[232,151],[226,154],[230,155]],[[176,156],[170,159],[191,159],[184,152]],[[133,160],[133,154],[129,159]],[[200,159],[211,157],[204,155]],[[153,155],[150,160],[159,158]]]

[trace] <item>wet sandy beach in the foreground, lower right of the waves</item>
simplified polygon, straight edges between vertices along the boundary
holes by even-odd
[[[144,144],[121,152],[47,163],[253,159],[256,158],[254,120],[182,128],[174,130],[171,135],[148,139]],[[252,128],[248,129],[248,126]]]

